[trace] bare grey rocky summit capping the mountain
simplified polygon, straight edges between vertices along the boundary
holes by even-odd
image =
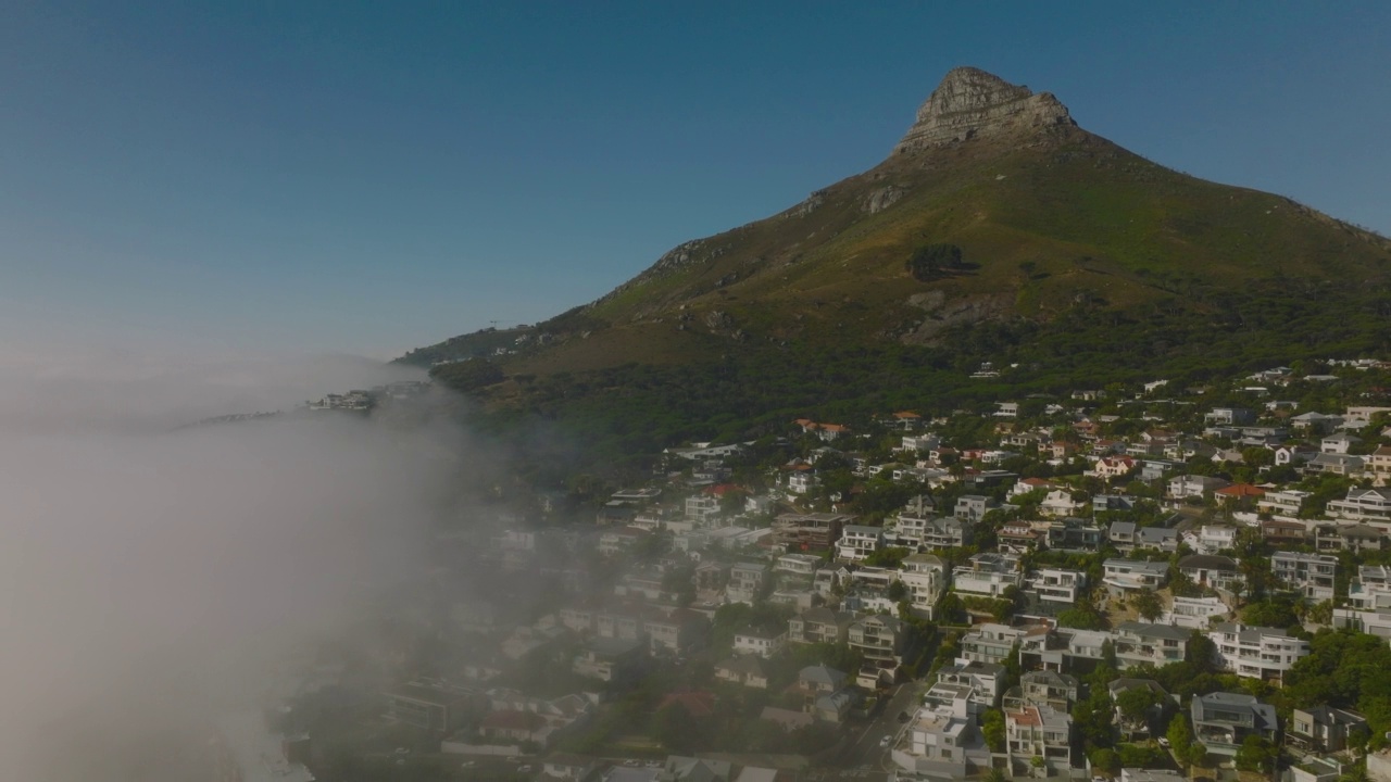
[[[954,68],[918,109],[918,120],[893,153],[1075,125],[1067,106],[1052,93],[1035,95],[979,68]]]

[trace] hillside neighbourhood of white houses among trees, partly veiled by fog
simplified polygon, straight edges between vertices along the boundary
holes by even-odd
[[[651,463],[498,481],[277,728],[344,778],[1391,782],[1384,362]]]

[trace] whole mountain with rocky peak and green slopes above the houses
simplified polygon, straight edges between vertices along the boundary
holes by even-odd
[[[1018,363],[1011,381],[1045,390],[1078,373],[1196,377],[1387,351],[1388,278],[1383,237],[1164,168],[1079,128],[1050,93],[956,68],[881,164],[679,245],[604,298],[522,330],[513,355],[480,377],[459,370],[470,378],[459,384],[495,406],[559,415],[600,387],[638,404],[651,395],[641,377],[665,383],[654,367],[737,372],[769,394],[829,383],[826,362],[906,383],[925,376],[876,367],[921,366],[939,388],[961,388],[979,360]],[[445,345],[399,360],[463,358]],[[563,404],[547,401],[555,377],[569,385]],[[787,391],[740,402],[732,426],[850,398]]]

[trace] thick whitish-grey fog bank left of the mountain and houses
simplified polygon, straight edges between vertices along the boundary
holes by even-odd
[[[419,572],[458,506],[453,429],[170,429],[402,377],[294,369],[0,367],[0,778],[177,779],[217,714],[263,705],[284,661]]]

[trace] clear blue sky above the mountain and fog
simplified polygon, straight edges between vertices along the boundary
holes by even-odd
[[[1391,3],[10,0],[0,341],[533,323],[874,166],[956,65],[1391,232]]]

